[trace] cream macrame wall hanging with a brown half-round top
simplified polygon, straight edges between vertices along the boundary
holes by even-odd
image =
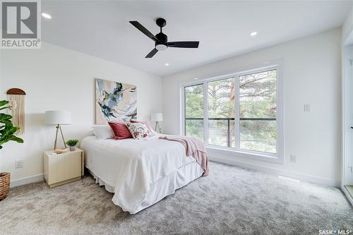
[[[12,88],[6,92],[11,106],[13,126],[19,126],[16,135],[25,133],[25,92],[18,88]]]

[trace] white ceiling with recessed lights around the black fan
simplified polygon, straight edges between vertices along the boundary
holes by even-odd
[[[351,8],[352,1],[42,1],[42,12],[52,16],[42,19],[42,39],[166,76],[336,28]],[[169,48],[145,59],[154,42],[128,21],[157,34],[158,17],[167,20],[169,41],[199,40],[199,48]]]

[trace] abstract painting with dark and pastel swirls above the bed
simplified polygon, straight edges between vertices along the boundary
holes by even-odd
[[[95,123],[136,119],[136,86],[111,80],[95,80]]]

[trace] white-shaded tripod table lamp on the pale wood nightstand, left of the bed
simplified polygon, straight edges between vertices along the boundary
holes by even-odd
[[[60,125],[69,125],[71,124],[71,113],[67,111],[46,111],[45,112],[45,124],[46,125],[55,125],[56,126],[56,135],[54,142],[54,150],[56,150],[56,140],[58,139],[58,132],[60,130],[61,137],[63,138],[64,145],[66,147],[65,139],[63,132],[61,131]]]

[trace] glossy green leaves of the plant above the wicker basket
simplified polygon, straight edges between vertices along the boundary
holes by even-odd
[[[11,107],[7,104],[7,100],[1,100],[0,110],[10,109]],[[20,128],[18,126],[13,126],[11,119],[11,115],[0,113],[0,149],[2,148],[2,145],[4,145],[4,143],[7,143],[8,141],[16,141],[17,143],[23,143],[23,139],[18,138],[16,135],[13,135]]]

